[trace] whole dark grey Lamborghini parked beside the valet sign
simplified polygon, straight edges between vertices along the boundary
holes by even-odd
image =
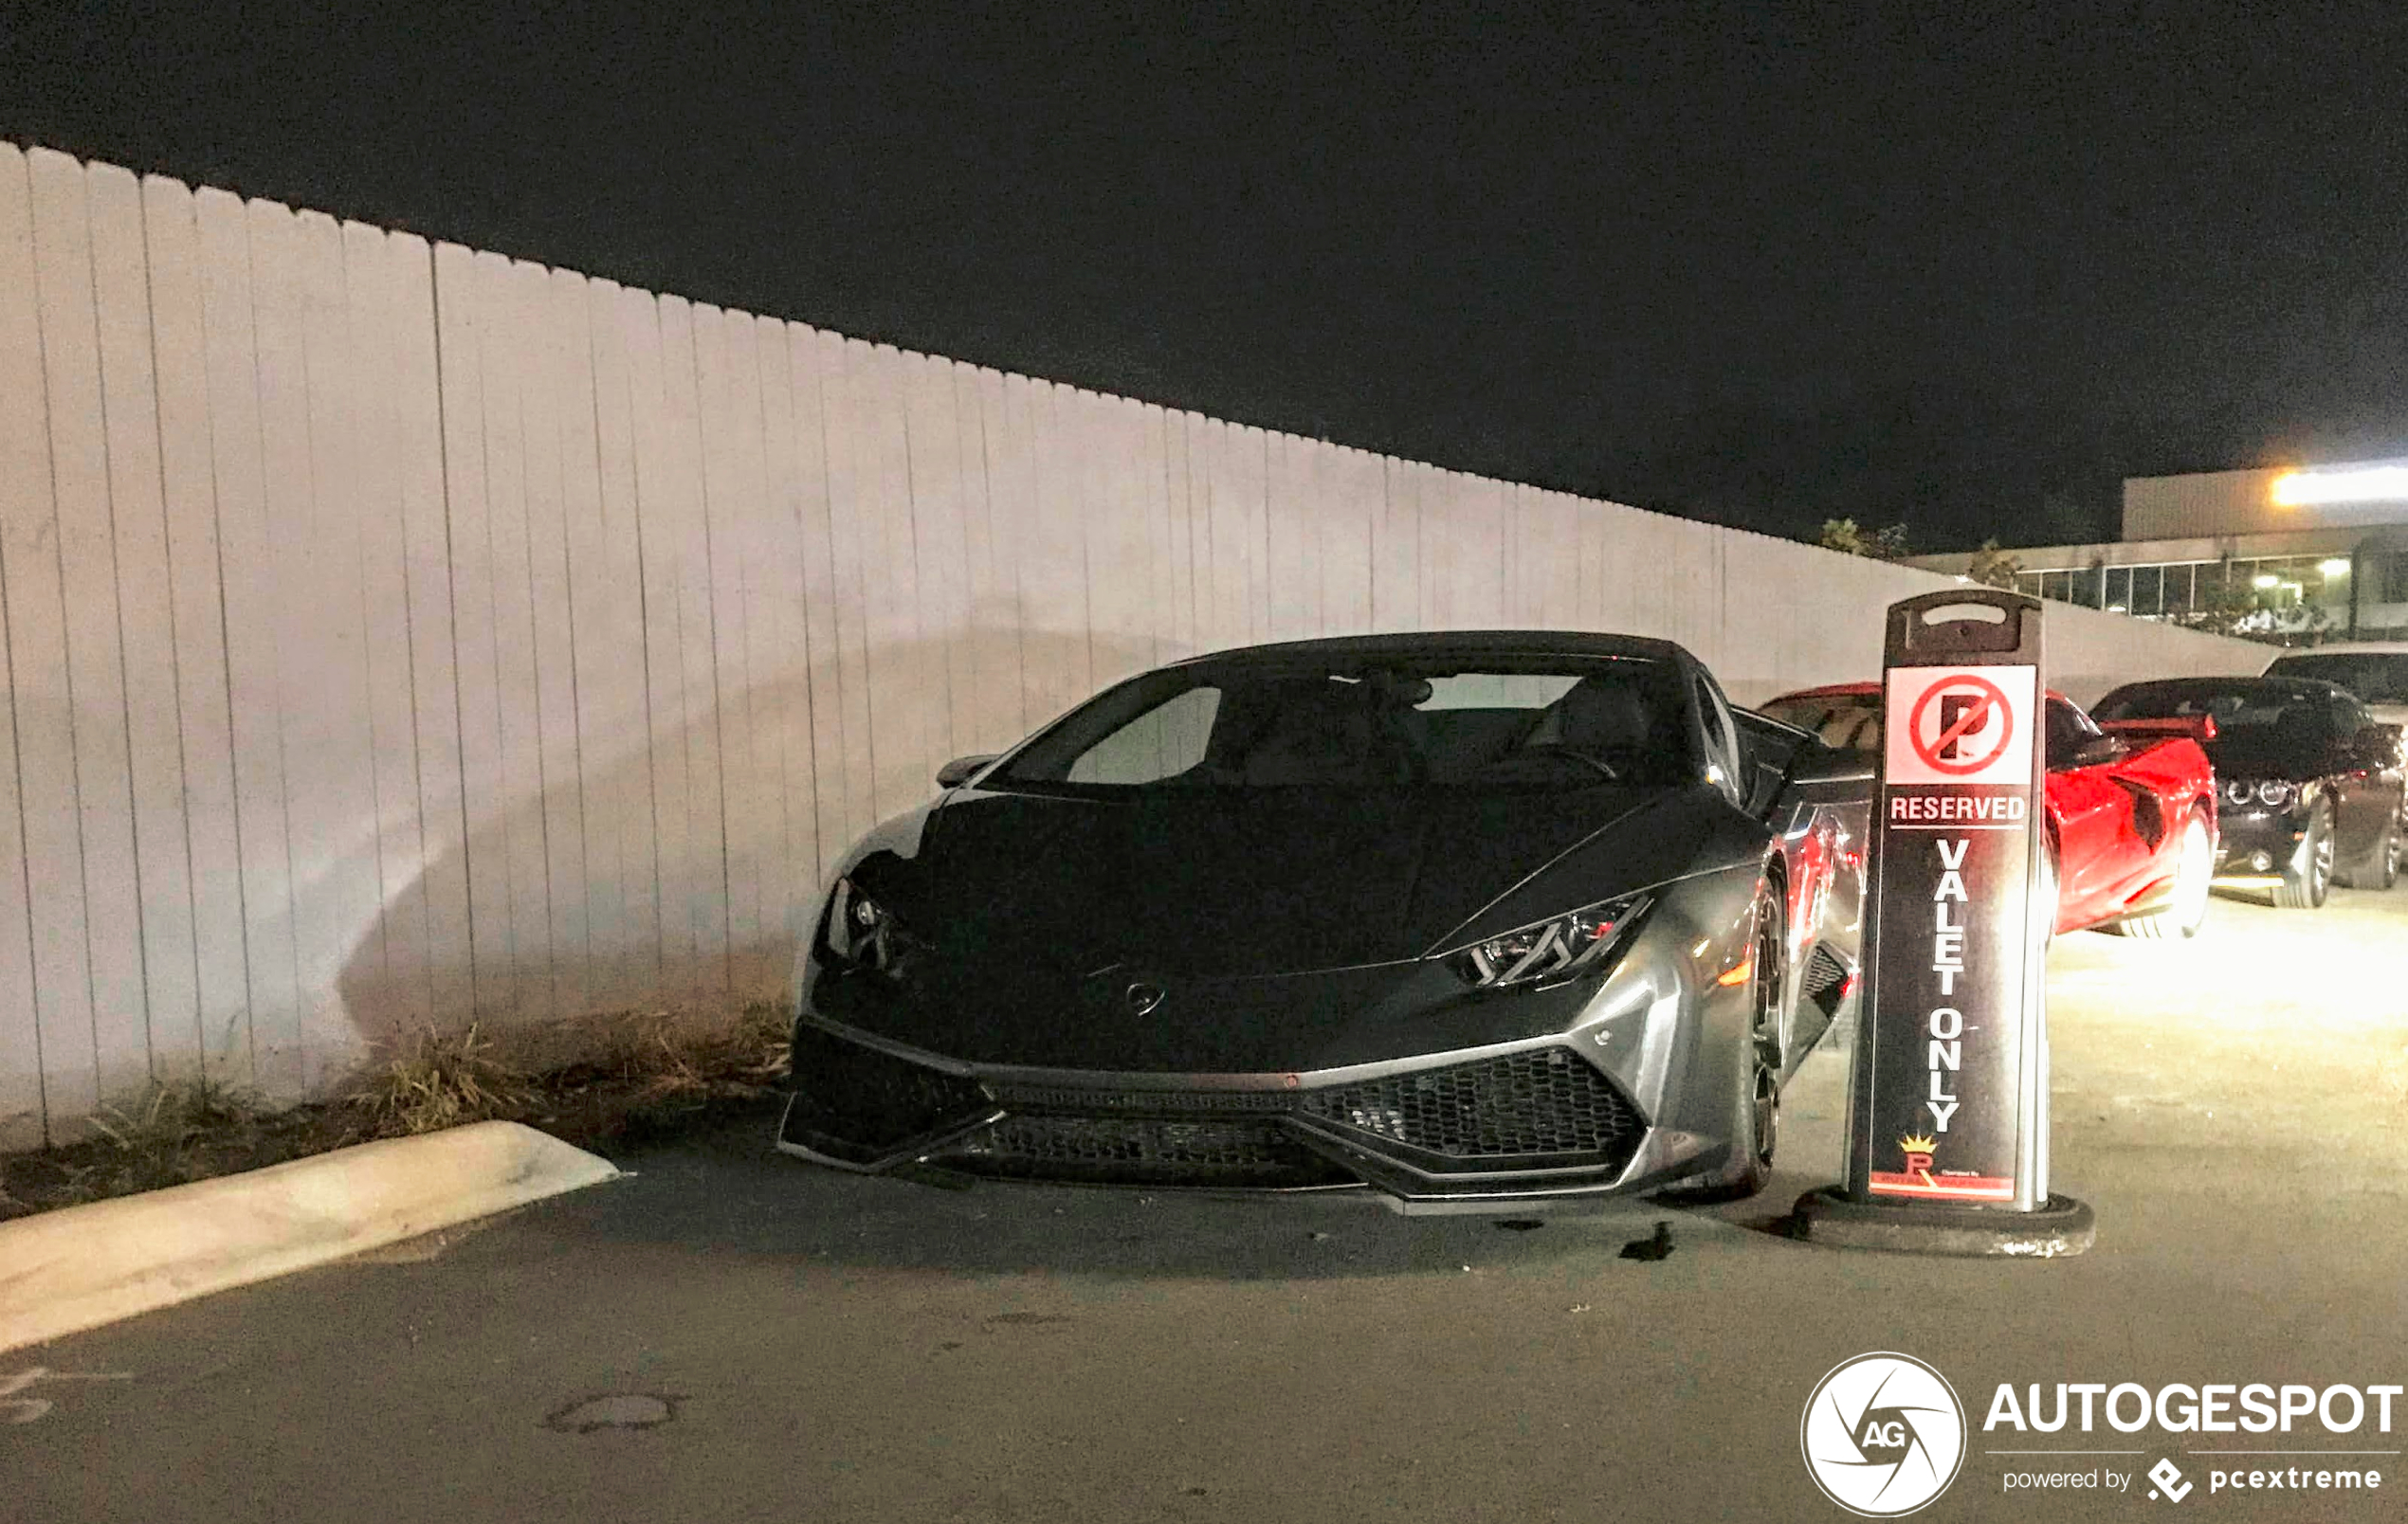
[[[1662,640],[1146,672],[843,860],[780,1146],[1404,1211],[1751,1194],[1854,985],[1828,763]]]

